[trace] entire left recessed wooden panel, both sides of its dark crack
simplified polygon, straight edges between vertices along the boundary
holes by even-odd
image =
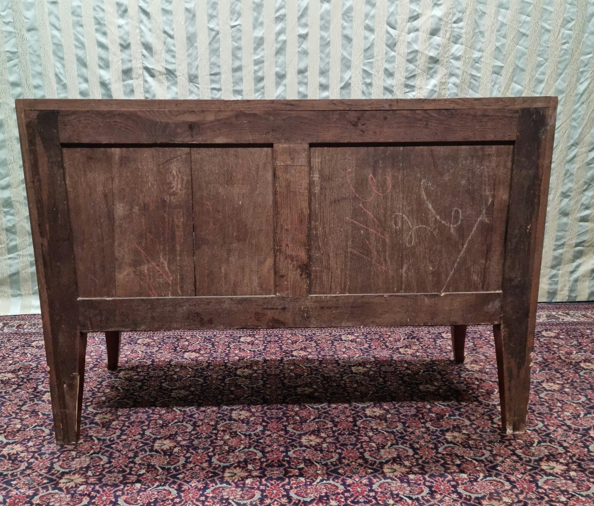
[[[273,295],[272,154],[62,148],[78,295]]]

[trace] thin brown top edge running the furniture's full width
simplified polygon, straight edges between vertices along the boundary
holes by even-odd
[[[383,109],[521,109],[549,107],[557,97],[482,97],[460,99],[305,99],[305,100],[154,100],[17,99],[28,110],[383,110]]]

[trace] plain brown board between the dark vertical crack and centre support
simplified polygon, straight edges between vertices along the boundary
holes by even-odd
[[[273,150],[192,149],[197,295],[274,293]]]

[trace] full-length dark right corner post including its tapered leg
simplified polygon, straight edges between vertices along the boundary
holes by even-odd
[[[538,296],[536,248],[542,247],[544,219],[539,208],[548,193],[548,128],[548,110],[520,111],[505,235],[501,325],[494,327],[501,423],[508,434],[526,430]]]

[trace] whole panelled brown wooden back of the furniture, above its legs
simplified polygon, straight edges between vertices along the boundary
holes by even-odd
[[[37,263],[61,248],[81,330],[497,323],[510,258],[533,303],[548,97],[17,105]]]

